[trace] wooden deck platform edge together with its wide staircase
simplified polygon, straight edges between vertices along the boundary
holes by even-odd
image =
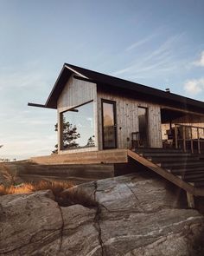
[[[182,150],[163,148],[112,149],[74,154],[52,154],[33,157],[30,162],[40,165],[124,164],[128,171],[129,158],[149,168],[187,192],[188,206],[194,207],[194,196],[204,196],[204,160]]]

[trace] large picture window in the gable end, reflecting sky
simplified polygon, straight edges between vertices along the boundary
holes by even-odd
[[[94,147],[93,102],[61,114],[61,149]]]

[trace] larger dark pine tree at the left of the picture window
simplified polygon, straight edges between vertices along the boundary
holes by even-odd
[[[54,125],[54,130],[58,131],[58,123]],[[69,121],[65,121],[63,118],[63,130],[62,130],[62,141],[63,141],[63,148],[76,148],[79,144],[75,141],[76,139],[80,138],[80,134],[77,132],[76,126],[73,126]],[[53,153],[57,154],[58,152],[58,144],[54,146]]]

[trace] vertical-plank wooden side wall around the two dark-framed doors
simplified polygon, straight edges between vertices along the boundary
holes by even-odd
[[[98,90],[97,96],[99,150],[103,149],[101,99],[116,102],[118,148],[131,148],[131,133],[138,131],[137,107],[148,108],[150,147],[163,147],[161,112],[159,105],[149,102],[140,102],[129,97],[125,97],[115,93],[107,93],[101,90]]]

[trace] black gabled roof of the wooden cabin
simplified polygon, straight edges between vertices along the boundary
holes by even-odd
[[[174,106],[175,108],[188,109],[204,114],[204,102],[196,101],[182,95],[175,95],[161,89],[154,89],[137,82],[130,82],[111,75],[105,75],[90,69],[80,68],[68,63],[65,63],[61,69],[61,74],[54,84],[54,89],[48,96],[45,104],[46,108],[57,108],[57,100],[61,95],[61,91],[73,73],[78,75],[79,79],[96,82],[100,89],[104,88],[110,91],[113,89],[117,92],[121,91],[123,95],[137,95],[137,97],[141,97],[141,99],[145,99],[147,102],[158,102],[164,106]]]

